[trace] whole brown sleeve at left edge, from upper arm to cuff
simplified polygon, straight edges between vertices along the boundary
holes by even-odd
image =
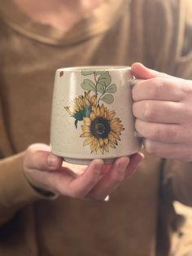
[[[41,199],[55,199],[52,193],[33,188],[23,171],[24,152],[14,154],[3,120],[0,100],[0,226],[24,205]],[[8,157],[7,157],[8,156]]]

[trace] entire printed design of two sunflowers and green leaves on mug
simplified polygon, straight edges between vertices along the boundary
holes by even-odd
[[[65,109],[75,118],[76,129],[78,121],[83,122],[80,135],[85,139],[83,145],[89,145],[91,152],[104,154],[109,152],[110,148],[118,146],[121,132],[124,130],[116,112],[104,105],[113,103],[116,84],[111,83],[108,71],[85,70],[81,74],[94,76],[94,81],[84,79],[81,82],[81,88],[85,90],[84,95],[75,98],[72,105]]]

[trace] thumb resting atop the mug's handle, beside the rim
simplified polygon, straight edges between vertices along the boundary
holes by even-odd
[[[150,79],[154,77],[170,77],[166,73],[160,73],[151,68],[146,68],[146,66],[138,62],[132,64],[131,73],[137,79]]]

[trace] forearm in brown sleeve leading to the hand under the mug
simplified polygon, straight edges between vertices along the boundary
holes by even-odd
[[[44,198],[25,179],[24,152],[0,161],[0,226],[24,205]]]

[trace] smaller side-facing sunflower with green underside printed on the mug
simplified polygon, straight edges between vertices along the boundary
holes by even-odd
[[[82,121],[84,117],[89,117],[92,106],[95,107],[96,105],[96,96],[90,96],[90,91],[85,91],[85,95],[80,95],[73,100],[72,106],[64,108],[71,117],[76,119],[75,126],[77,128],[77,122]]]

